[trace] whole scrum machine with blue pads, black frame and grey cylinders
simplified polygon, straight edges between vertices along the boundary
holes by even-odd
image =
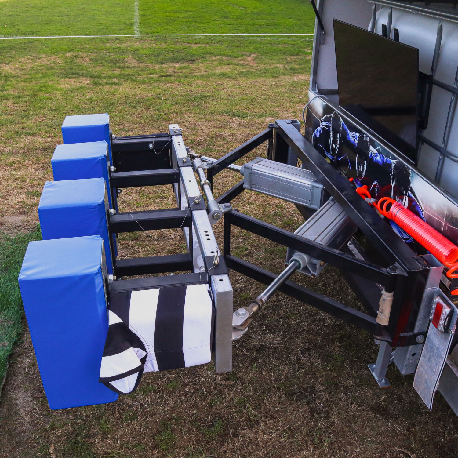
[[[88,138],[88,123],[96,121],[103,127],[103,141],[100,140],[100,133],[98,138]],[[447,336],[453,337],[458,315],[456,307],[438,288],[442,265],[431,255],[417,256],[411,251],[371,206],[361,199],[350,182],[300,134],[299,127],[297,120],[277,120],[251,140],[216,160],[201,156],[186,147],[182,129],[178,125],[169,125],[169,132],[163,134],[117,137],[109,131],[108,115],[66,118],[62,128],[64,145],[56,147],[51,161],[55,181],[45,184],[38,207],[44,240],[31,242],[19,277],[24,308],[40,372],[44,377],[44,385],[47,384],[45,389],[51,408],[115,400],[113,391],[103,391],[105,387],[99,383],[105,383],[104,380],[109,376],[102,375],[100,369],[101,375],[96,379],[100,368],[98,351],[89,354],[88,349],[100,349],[106,335],[107,313],[111,316],[110,326],[112,322],[114,326],[119,323],[116,321],[116,313],[119,312],[110,308],[115,307],[116,298],[130,298],[135,292],[137,297],[137,293],[142,290],[165,291],[171,286],[192,287],[202,284],[207,284],[210,289],[215,311],[214,321],[209,320],[212,326],[208,327],[210,343],[206,343],[206,361],[210,360],[210,352],[213,353],[217,372],[232,369],[233,341],[249,330],[260,308],[275,292],[281,291],[371,333],[380,344],[377,362],[369,365],[379,386],[389,386],[386,372],[390,362],[394,361],[401,373],[416,373],[415,379],[421,382],[418,383],[421,386],[415,388],[431,408],[445,360],[435,358],[434,352],[431,356],[431,345],[428,347],[427,343],[432,343],[435,349],[435,343],[443,341],[440,342],[440,348],[442,354],[447,356],[451,344]],[[68,129],[75,130],[76,142],[73,146],[69,141],[73,137],[69,137]],[[73,134],[73,131],[70,133]],[[89,142],[81,143],[81,139]],[[263,143],[267,143],[267,158],[256,158],[242,167],[234,164]],[[78,162],[82,158],[85,161],[90,158],[93,167],[91,174],[95,173],[96,177],[88,176],[88,169],[84,168],[82,162]],[[302,161],[302,167],[297,167],[298,158]],[[98,164],[98,168],[94,168],[95,164]],[[244,178],[215,199],[213,180],[223,169],[238,171]],[[79,175],[76,174],[78,170]],[[123,188],[156,185],[172,187],[177,204],[175,208],[123,212],[120,207],[118,211],[117,197]],[[230,202],[244,189],[293,202],[306,220],[305,223],[292,233],[233,209]],[[93,212],[93,208],[97,209],[97,213]],[[84,225],[86,220],[93,223]],[[218,223],[224,226],[222,252],[212,229]],[[287,247],[285,270],[276,275],[233,256],[231,226]],[[128,259],[117,256],[117,234],[145,231],[155,240],[156,237],[149,231],[160,229],[175,229],[175,232],[157,240],[167,240],[182,231],[187,245],[186,253]],[[361,238],[357,240],[354,237],[357,233],[365,237],[364,250],[358,243]],[[64,240],[60,242],[59,239]],[[89,245],[86,243],[98,246],[97,253],[91,248],[89,256]],[[75,248],[80,245],[81,249]],[[56,258],[49,254],[47,247],[55,250]],[[98,250],[103,247],[104,251],[100,251],[102,259],[98,258],[97,262]],[[74,251],[73,255],[66,256],[66,251],[70,249]],[[86,257],[80,256],[78,250],[81,253],[84,251]],[[92,260],[90,268],[97,270],[96,276],[91,278],[98,278],[98,285],[104,285],[105,294],[101,294],[102,290],[95,284],[84,286],[85,280],[74,280],[76,275],[80,275],[78,266],[81,260],[89,257]],[[327,263],[340,270],[360,299],[365,312],[289,281],[294,272],[316,278]],[[228,273],[230,268],[268,285],[254,301],[236,311],[233,311],[233,289]],[[87,275],[89,271],[86,267],[82,269],[81,272]],[[65,272],[71,272],[71,276]],[[151,276],[161,273],[174,274]],[[68,280],[63,280],[67,277],[73,278],[73,286],[69,286]],[[53,290],[50,285],[55,284],[55,278],[59,278],[56,280],[59,288],[68,290],[69,300],[63,296],[54,300],[54,297],[46,295],[48,292],[40,293],[37,298],[37,291]],[[64,283],[65,287],[62,286]],[[75,285],[85,288],[88,297],[91,296],[95,302],[92,304],[89,300],[80,299],[83,291],[73,290]],[[428,325],[431,305],[435,304],[438,297],[449,305],[450,310],[453,309],[453,318],[449,322],[450,332],[441,336],[437,331],[438,336],[427,338],[436,329],[431,326],[428,329]],[[387,316],[382,313],[386,298],[390,298],[391,302],[388,302],[392,303],[391,312]],[[154,305],[148,300],[142,300],[142,307],[146,307],[144,312],[149,313]],[[66,305],[69,301],[71,307],[67,313]],[[167,308],[164,316],[169,316],[169,313]],[[53,316],[55,320],[47,322],[46,316]],[[129,318],[125,320],[120,326],[123,333],[127,329],[125,322],[130,326]],[[155,322],[154,328],[152,326],[148,322],[148,329],[153,330],[158,322]],[[169,322],[161,326],[162,330],[169,329],[170,338],[180,334],[179,330],[171,331],[174,328],[169,327]],[[191,334],[198,332],[193,326],[191,324]],[[66,340],[78,343],[72,359],[75,361],[78,358],[78,364],[69,368],[82,384],[86,384],[78,393],[73,393],[74,390],[69,387],[64,393],[61,383],[68,385],[68,377],[56,378],[56,371],[62,374],[67,372],[62,370],[53,352],[56,346],[60,348],[64,334],[57,333],[54,344],[49,344],[48,333],[52,333],[55,327],[68,327]],[[119,349],[116,347],[114,351],[114,347],[107,344],[107,338],[107,353],[104,350],[102,358],[129,351],[124,348],[125,344],[131,342],[129,339],[124,334],[116,335],[111,342],[119,344]],[[132,345],[131,348],[136,348]],[[444,345],[447,348],[443,348]],[[396,350],[393,351],[393,347]],[[168,352],[170,349],[160,351]],[[423,372],[420,370],[422,376],[417,377],[421,363],[425,360],[423,355],[430,359],[426,358]],[[431,357],[438,364],[433,371],[429,363]],[[123,366],[122,371],[116,370],[115,376],[125,378],[133,375],[131,371],[137,370],[139,362],[140,358],[137,358],[132,369]],[[140,377],[141,374],[139,372]],[[75,380],[70,377],[70,382],[74,383],[72,387],[77,386]],[[120,380],[119,377],[113,378],[113,381],[117,380]],[[128,393],[129,390],[119,392]]]

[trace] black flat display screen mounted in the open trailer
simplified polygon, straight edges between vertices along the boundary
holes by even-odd
[[[418,149],[418,49],[334,19],[339,105],[411,161]]]

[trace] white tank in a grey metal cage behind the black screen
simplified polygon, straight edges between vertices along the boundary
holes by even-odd
[[[386,5],[384,5],[386,3]],[[419,49],[420,71],[432,75],[437,82],[458,87],[458,11],[456,22],[415,5],[390,6],[397,2],[377,1],[382,4],[376,12],[375,32],[382,34],[382,24],[387,24],[390,38],[394,28],[399,29],[399,41]],[[374,3],[374,5],[376,5]],[[425,12],[422,12],[425,11]],[[429,10],[431,11],[431,10]],[[419,14],[420,13],[420,14]],[[390,19],[391,16],[391,19]],[[391,24],[391,28],[389,25]],[[434,85],[427,129],[422,133],[426,140],[446,150],[437,151],[426,142],[420,146],[418,168],[453,196],[458,196],[458,116],[456,93]]]

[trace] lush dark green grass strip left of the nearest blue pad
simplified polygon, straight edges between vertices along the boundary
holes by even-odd
[[[28,242],[40,239],[39,227],[30,234],[16,237],[0,234],[0,391],[11,349],[22,331],[23,309],[17,277]]]

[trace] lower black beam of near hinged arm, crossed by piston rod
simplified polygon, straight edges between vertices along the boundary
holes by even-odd
[[[226,263],[229,268],[246,275],[249,278],[261,282],[263,284],[270,284],[277,278],[277,275],[257,267],[251,262],[244,261],[236,256],[225,256]],[[355,310],[347,305],[341,304],[337,300],[326,297],[323,294],[311,291],[311,289],[300,286],[292,281],[287,281],[283,286],[278,289],[284,294],[294,297],[297,300],[305,302],[312,307],[315,307],[329,315],[350,323],[360,329],[374,334],[381,335],[383,340],[390,340],[386,333],[382,333],[382,326],[379,325],[373,316],[366,315],[365,313]]]

